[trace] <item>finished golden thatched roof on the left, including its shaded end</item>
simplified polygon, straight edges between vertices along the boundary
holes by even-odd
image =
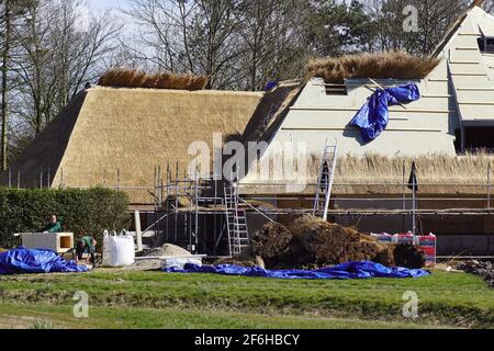
[[[213,133],[239,135],[262,93],[92,88],[81,92],[40,134],[12,174],[24,186],[153,186],[156,166],[178,162],[183,173],[192,141],[213,148]],[[165,178],[165,174],[162,174]],[[15,177],[14,177],[15,178]],[[7,176],[2,176],[5,183]],[[15,180],[13,181],[15,182]],[[153,203],[148,190],[127,190],[134,203]]]

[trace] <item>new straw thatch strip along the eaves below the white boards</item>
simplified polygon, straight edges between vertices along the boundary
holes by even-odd
[[[317,156],[289,168],[279,160],[282,156],[273,155],[267,160],[251,167],[248,177],[240,183],[240,192],[245,194],[283,194],[291,193],[287,184],[303,184],[295,186],[296,192],[314,194],[319,169]],[[417,166],[417,178],[420,193],[429,194],[486,194],[487,183],[493,183],[494,157],[486,152],[467,154],[449,157],[445,155],[426,155],[416,158],[385,157],[368,154],[363,157],[351,155],[338,158],[335,171],[335,194],[401,194],[403,184],[408,182],[412,162]],[[490,166],[491,165],[491,166]],[[261,171],[269,167],[268,171]],[[304,167],[306,179],[294,181],[293,172]],[[489,173],[491,173],[489,176]],[[269,177],[267,178],[266,176]],[[272,176],[277,178],[272,178]],[[279,176],[289,176],[279,179]],[[259,185],[262,184],[262,185]],[[294,192],[294,191],[293,191]]]

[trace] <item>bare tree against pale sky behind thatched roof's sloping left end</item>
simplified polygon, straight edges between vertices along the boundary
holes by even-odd
[[[18,30],[18,116],[34,134],[53,120],[104,70],[117,42],[120,25],[103,14],[79,23],[80,1],[40,1],[29,8]]]

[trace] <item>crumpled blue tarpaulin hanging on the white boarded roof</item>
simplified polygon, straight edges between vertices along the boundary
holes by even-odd
[[[364,143],[375,139],[388,127],[388,107],[420,99],[417,84],[377,89],[350,124],[358,126]]]

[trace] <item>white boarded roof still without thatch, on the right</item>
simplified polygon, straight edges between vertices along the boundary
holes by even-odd
[[[347,80],[348,95],[327,95],[323,79],[312,79],[262,158],[276,158],[271,145],[280,143],[304,143],[307,154],[318,157],[326,140],[335,139],[340,155],[456,156],[456,129],[494,124],[494,55],[480,52],[478,38],[482,33],[494,36],[494,16],[474,8],[445,46],[439,66],[426,79],[416,81],[422,99],[406,109],[391,107],[388,129],[367,145],[361,143],[360,132],[348,124],[377,87],[366,79]],[[408,82],[378,81],[384,87]],[[256,181],[266,180],[248,172],[243,182]]]

